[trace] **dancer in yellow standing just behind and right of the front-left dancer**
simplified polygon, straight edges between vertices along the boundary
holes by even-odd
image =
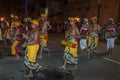
[[[43,51],[46,51],[48,53],[48,56],[50,57],[50,52],[48,49],[48,30],[50,30],[52,27],[49,24],[49,21],[47,20],[46,14],[41,14],[42,19],[42,27],[40,31],[40,58],[42,58]]]

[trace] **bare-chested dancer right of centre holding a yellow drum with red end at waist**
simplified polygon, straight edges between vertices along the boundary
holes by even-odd
[[[65,40],[63,40],[61,43],[62,45],[65,45],[64,50],[64,57],[63,57],[63,65],[61,68],[66,69],[66,65],[68,64],[74,64],[74,69],[77,69],[78,64],[78,55],[77,55],[77,49],[78,49],[78,43],[76,38],[80,37],[79,30],[76,26],[76,19],[75,18],[69,18],[70,21],[70,35]]]

